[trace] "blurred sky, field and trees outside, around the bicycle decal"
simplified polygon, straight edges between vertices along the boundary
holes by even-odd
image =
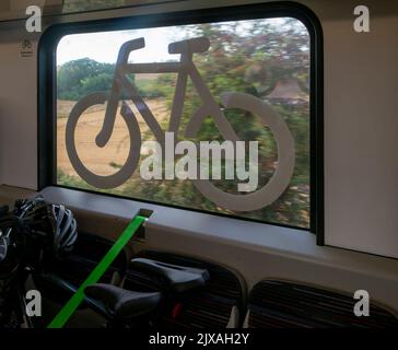
[[[74,2],[81,3],[66,1],[69,9],[73,9]],[[194,62],[220,106],[222,93],[244,92],[266,101],[286,122],[295,148],[295,168],[288,189],[268,207],[234,212],[212,203],[190,180],[143,180],[139,168],[118,188],[99,190],[87,185],[73,170],[65,144],[66,124],[74,104],[90,93],[110,91],[117,54],[125,42],[144,37],[147,43],[145,48],[130,55],[129,62],[178,61],[178,55],[168,54],[168,44],[199,36],[208,37],[211,46],[207,52],[195,54]],[[308,229],[309,65],[308,32],[298,20],[291,18],[67,35],[57,47],[57,184]],[[142,73],[129,75],[129,79],[166,130],[176,74]],[[126,100],[126,103],[138,118],[142,141],[154,140],[132,102]],[[188,82],[182,130],[199,105],[196,90]],[[129,150],[128,131],[120,115],[106,147],[95,144],[105,108],[106,105],[97,105],[87,109],[75,133],[79,156],[91,171],[101,175],[119,170]],[[225,109],[224,114],[242,140],[259,141],[259,187],[262,187],[272,176],[278,160],[272,133],[249,113]],[[201,126],[200,140],[223,140],[211,118]],[[233,180],[213,183],[224,191],[236,192]]]

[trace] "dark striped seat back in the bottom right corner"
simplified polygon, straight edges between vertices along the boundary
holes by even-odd
[[[265,280],[249,296],[249,328],[398,327],[388,311],[371,303],[368,317],[356,317],[352,296],[285,281]]]

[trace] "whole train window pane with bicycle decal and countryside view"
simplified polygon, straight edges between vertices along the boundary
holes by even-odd
[[[51,182],[311,229],[313,30],[232,9],[58,28]]]

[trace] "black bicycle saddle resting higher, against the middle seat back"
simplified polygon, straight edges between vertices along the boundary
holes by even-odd
[[[136,271],[162,278],[167,289],[178,293],[203,287],[210,278],[209,271],[204,269],[183,267],[144,258],[132,259],[131,267]]]

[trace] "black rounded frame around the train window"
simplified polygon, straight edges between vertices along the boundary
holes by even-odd
[[[122,8],[125,9],[125,8]],[[121,10],[122,10],[121,9]],[[201,209],[185,208],[171,203],[160,203],[140,198],[131,198],[68,187],[57,184],[57,110],[56,110],[56,51],[59,40],[69,34],[94,33],[118,30],[149,28],[168,25],[200,24],[221,21],[238,21],[272,18],[293,18],[301,21],[309,35],[309,229],[283,223],[265,222],[258,219],[234,217]],[[203,212],[236,220],[255,221],[269,225],[292,228],[316,234],[318,245],[325,245],[324,237],[324,43],[319,20],[312,10],[295,2],[271,2],[249,5],[233,5],[200,10],[166,12],[160,14],[137,14],[116,19],[61,23],[49,26],[38,43],[37,79],[37,155],[38,190],[48,186],[71,188],[101,196],[110,196],[138,202]]]

